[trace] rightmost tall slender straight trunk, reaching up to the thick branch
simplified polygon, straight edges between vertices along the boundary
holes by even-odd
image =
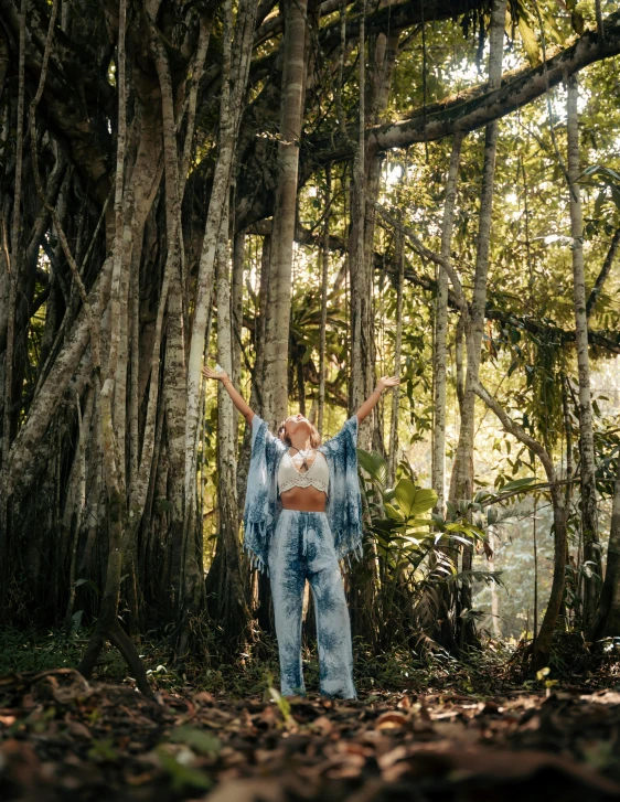
[[[592,430],[592,404],[590,392],[590,359],[588,354],[588,318],[586,308],[586,270],[584,264],[584,218],[580,190],[577,179],[579,168],[579,121],[577,76],[568,79],[566,132],[568,138],[568,192],[570,196],[570,234],[573,236],[573,301],[577,334],[577,371],[579,376],[579,452],[581,455],[581,528],[584,560],[590,564],[596,577],[584,579],[584,625],[588,627],[595,614],[601,576],[598,537],[598,510],[596,491],[595,438]]]

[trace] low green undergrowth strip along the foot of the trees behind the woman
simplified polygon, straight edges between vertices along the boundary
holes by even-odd
[[[29,671],[75,667],[83,656],[90,632],[81,629],[68,633],[63,629],[0,629],[0,675]],[[207,659],[188,656],[175,662],[170,644],[163,640],[145,640],[139,652],[154,688],[188,694],[207,691],[214,695],[243,698],[263,694],[278,685],[278,653],[272,638],[263,638],[260,648],[243,652],[234,659],[221,660],[217,644],[212,643]],[[556,689],[578,682],[592,688],[620,683],[618,661],[613,655],[575,656],[575,642],[558,639],[557,650],[545,682]],[[545,682],[524,672],[519,664],[523,644],[488,640],[482,649],[470,650],[455,657],[442,650],[425,655],[402,646],[376,653],[366,644],[355,642],[355,683],[360,696],[375,693],[452,693],[492,696],[506,691],[544,691]],[[303,673],[309,693],[319,687],[316,646],[303,649]],[[93,675],[96,681],[127,683],[127,665],[118,651],[107,646]]]

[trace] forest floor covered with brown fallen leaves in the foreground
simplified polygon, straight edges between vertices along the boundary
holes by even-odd
[[[400,671],[392,689],[378,672],[354,702],[281,699],[269,671],[211,691],[156,671],[147,698],[129,678],[22,666],[0,677],[0,799],[620,800],[617,665],[557,681],[458,666]]]

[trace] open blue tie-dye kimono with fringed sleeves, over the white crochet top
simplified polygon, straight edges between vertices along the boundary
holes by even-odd
[[[339,559],[352,553],[362,556],[362,496],[356,446],[357,416],[353,415],[335,437],[317,449],[325,457],[330,470],[325,513]],[[288,446],[255,415],[244,511],[244,548],[260,570],[267,567],[269,543],[282,509],[277,477],[280,459],[287,450]]]

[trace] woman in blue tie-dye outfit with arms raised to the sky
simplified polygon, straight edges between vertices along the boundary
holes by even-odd
[[[303,415],[282,420],[275,437],[234,388],[223,382],[252,426],[252,459],[244,511],[244,548],[268,568],[280,655],[282,696],[306,693],[301,667],[301,618],[306,579],[317,611],[320,686],[325,696],[356,698],[349,609],[339,560],[362,555],[362,499],[357,481],[357,426],[381,394],[399,383],[383,376],[340,432],[321,443]]]

